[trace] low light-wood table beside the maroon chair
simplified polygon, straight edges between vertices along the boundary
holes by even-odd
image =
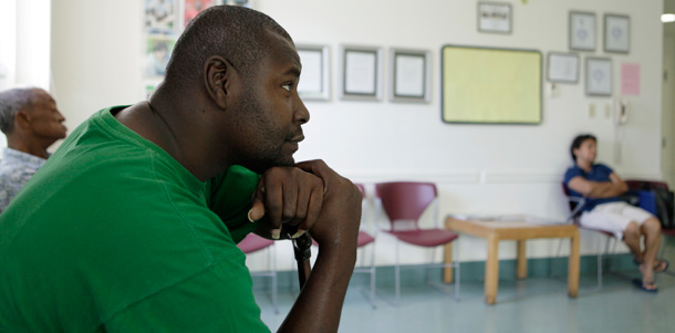
[[[518,256],[516,260],[516,275],[526,279],[528,275],[528,260],[526,258],[526,241],[536,238],[570,238],[571,251],[568,269],[568,294],[577,298],[579,291],[579,229],[573,225],[534,225],[525,221],[478,221],[461,220],[447,217],[445,220],[447,230],[481,237],[488,241],[488,258],[485,263],[485,302],[495,304],[497,302],[497,289],[499,283],[499,241],[516,240],[518,242]],[[451,262],[450,256],[445,256],[445,261]],[[453,268],[445,268],[443,280],[446,283],[453,281]]]

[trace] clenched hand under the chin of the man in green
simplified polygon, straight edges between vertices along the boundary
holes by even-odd
[[[266,218],[256,233],[279,239],[293,230],[291,236],[295,238],[312,229],[322,208],[323,184],[321,178],[297,167],[268,169],[258,181],[249,211],[251,221]]]

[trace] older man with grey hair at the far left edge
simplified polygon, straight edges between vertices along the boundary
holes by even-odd
[[[65,137],[63,121],[56,102],[44,90],[0,93],[0,131],[7,136],[0,162],[0,212],[46,162],[46,148]]]

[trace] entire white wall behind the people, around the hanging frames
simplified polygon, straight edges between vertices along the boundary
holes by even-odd
[[[624,177],[661,177],[662,1],[508,1],[513,9],[509,35],[478,33],[477,1],[326,1],[257,0],[257,9],[283,25],[297,43],[328,44],[332,58],[332,100],[308,102],[311,121],[297,159],[323,158],[354,181],[432,180],[440,192],[440,216],[447,214],[531,214],[561,219],[567,214],[560,180],[570,165],[568,146],[580,132],[599,137],[599,159]],[[74,128],[101,107],[133,103],[142,94],[141,0],[53,0],[52,67],[58,101]],[[439,54],[444,44],[568,51],[568,12],[596,14],[595,52],[612,59],[614,96],[620,92],[622,62],[641,65],[641,94],[627,96],[631,119],[623,145],[605,107],[612,98],[584,96],[583,83],[559,85],[544,96],[543,122],[521,125],[449,125],[440,121]],[[602,15],[631,17],[631,52],[602,51]],[[423,49],[433,52],[430,104],[353,102],[336,98],[340,44]],[[385,69],[387,64],[385,63]],[[584,71],[581,67],[580,77]],[[385,81],[390,80],[385,71]],[[596,112],[589,116],[589,108]],[[621,157],[621,160],[619,160]],[[372,202],[371,202],[372,204]],[[370,215],[372,216],[372,214]],[[372,223],[372,218],[366,218]],[[425,219],[424,223],[430,221]],[[599,238],[582,236],[582,253],[596,249]],[[380,235],[377,263],[393,262],[392,239]],[[557,242],[532,241],[528,256],[548,257]],[[282,244],[279,268],[292,267],[290,247]],[[515,258],[502,244],[501,258]],[[484,260],[485,241],[463,236],[461,260]],[[625,249],[624,249],[625,250]],[[423,253],[406,250],[406,262]],[[438,258],[438,257],[437,257]],[[259,268],[257,259],[251,262]]]

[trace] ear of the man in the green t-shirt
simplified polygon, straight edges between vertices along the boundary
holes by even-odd
[[[227,110],[235,75],[232,65],[221,56],[214,55],[206,61],[204,66],[204,83],[209,96],[216,105]]]

